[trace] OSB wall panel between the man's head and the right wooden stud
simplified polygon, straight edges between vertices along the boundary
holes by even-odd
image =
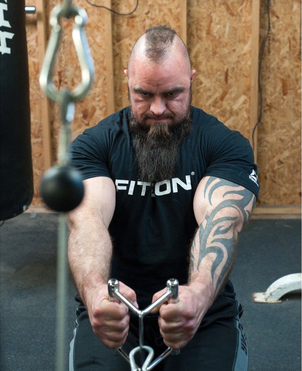
[[[249,138],[251,1],[188,1],[193,105]],[[240,27],[239,27],[240,25]]]

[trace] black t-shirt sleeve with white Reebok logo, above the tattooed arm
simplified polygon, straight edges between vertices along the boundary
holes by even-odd
[[[258,198],[257,165],[250,142],[240,132],[217,121],[207,137],[208,164],[204,176],[214,176],[242,185]]]

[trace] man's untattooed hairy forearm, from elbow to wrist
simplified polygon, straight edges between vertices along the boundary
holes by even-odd
[[[85,302],[90,290],[108,282],[112,243],[103,219],[97,213],[69,218],[68,227],[69,267]]]

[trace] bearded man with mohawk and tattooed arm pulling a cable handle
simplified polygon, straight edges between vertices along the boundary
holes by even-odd
[[[108,296],[110,277],[144,309],[179,280],[178,302],[144,317],[157,370],[246,371],[248,350],[228,280],[238,234],[258,195],[249,141],[191,106],[186,47],[168,26],[133,47],[129,107],[72,142],[85,196],[69,213],[69,266],[78,295],[69,370],[126,371],[115,349],[139,345],[137,316]]]

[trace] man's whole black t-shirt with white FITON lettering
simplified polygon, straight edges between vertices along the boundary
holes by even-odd
[[[192,131],[179,148],[174,177],[152,187],[137,181],[129,107],[86,129],[70,145],[72,164],[83,179],[105,176],[116,184],[109,226],[114,246],[111,277],[136,291],[141,309],[165,288],[167,279],[187,282],[190,244],[198,227],[193,198],[203,177],[232,181],[258,197],[249,141],[202,109],[192,107],[191,117]],[[221,295],[235,296],[230,281]]]

